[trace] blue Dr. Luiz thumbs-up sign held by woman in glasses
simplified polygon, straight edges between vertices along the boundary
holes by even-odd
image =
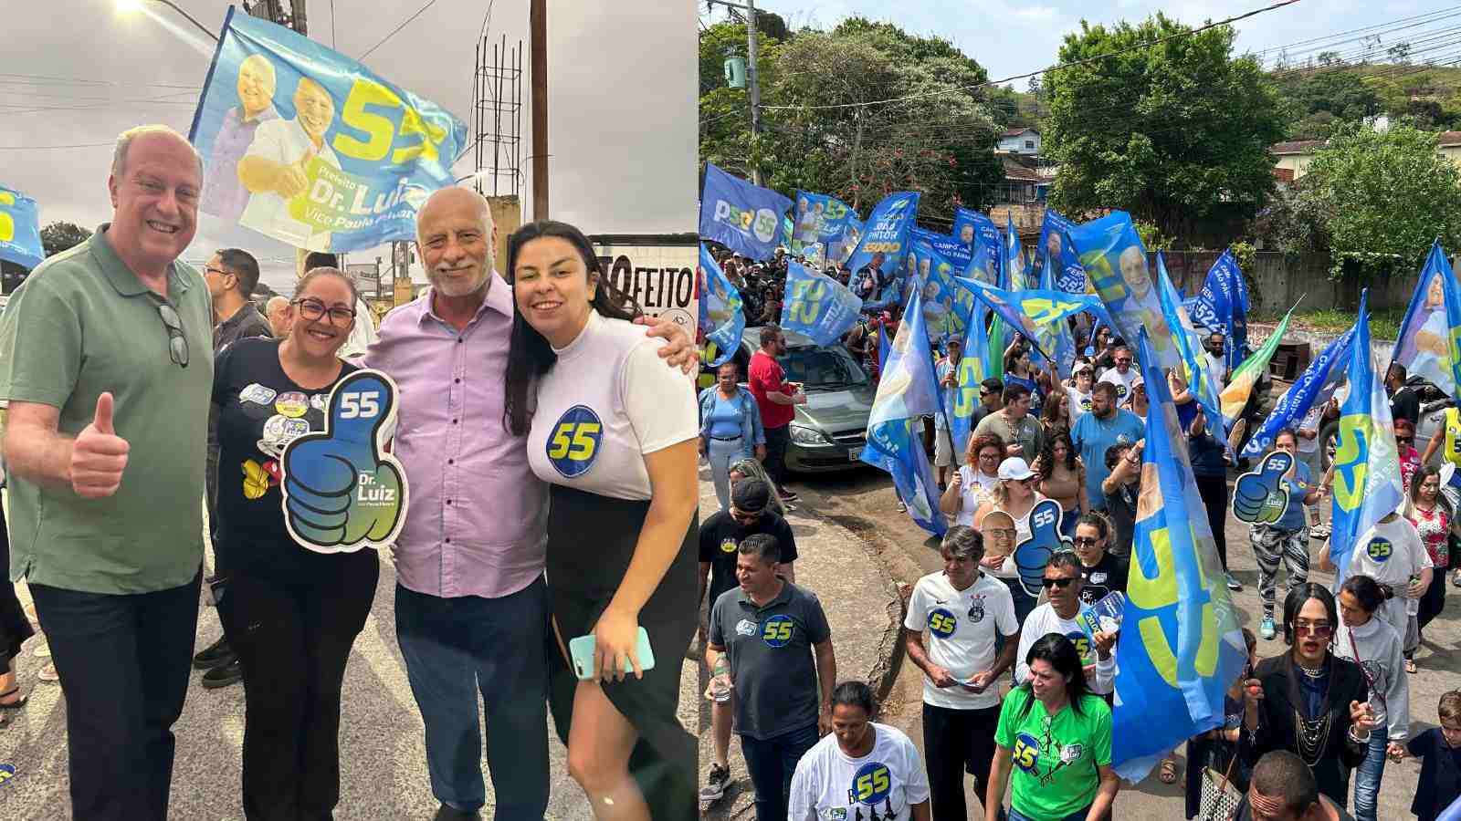
[[[396,539],[406,520],[406,476],[384,450],[394,427],[396,384],[355,371],[330,393],[323,432],[291,441],[283,472],[289,535],[317,552],[349,552]]]

